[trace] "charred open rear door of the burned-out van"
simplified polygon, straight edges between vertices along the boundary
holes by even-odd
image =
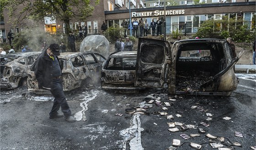
[[[171,47],[167,41],[139,38],[135,87],[163,87],[168,65]]]

